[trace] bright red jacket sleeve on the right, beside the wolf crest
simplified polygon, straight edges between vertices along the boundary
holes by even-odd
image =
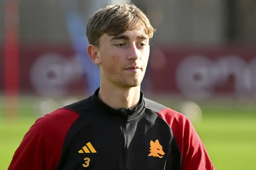
[[[159,112],[172,129],[182,154],[182,170],[215,170],[210,157],[189,119],[170,108]]]

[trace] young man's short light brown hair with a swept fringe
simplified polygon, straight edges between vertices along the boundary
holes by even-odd
[[[118,36],[137,27],[141,27],[149,38],[155,32],[147,16],[134,4],[108,5],[90,17],[86,35],[90,44],[99,46],[103,34]]]

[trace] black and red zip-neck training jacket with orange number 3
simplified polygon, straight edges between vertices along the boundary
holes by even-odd
[[[8,170],[214,170],[184,115],[140,95],[136,109],[98,97],[39,118]]]

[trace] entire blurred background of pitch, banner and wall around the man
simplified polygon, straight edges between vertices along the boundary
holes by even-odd
[[[255,170],[256,1],[132,0],[157,32],[142,89],[185,114],[217,170]],[[0,1],[0,170],[34,121],[86,98],[89,16],[126,0]]]

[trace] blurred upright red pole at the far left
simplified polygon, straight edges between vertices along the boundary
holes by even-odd
[[[19,94],[18,13],[18,0],[6,0],[4,4],[4,112],[6,117],[16,118]]]

